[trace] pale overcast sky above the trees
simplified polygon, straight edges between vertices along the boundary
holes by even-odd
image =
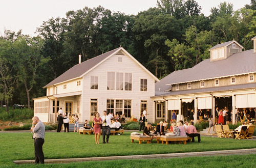
[[[209,16],[210,8],[218,7],[224,0],[196,0],[205,16]],[[226,0],[233,4],[233,9],[243,8],[250,0]],[[94,8],[102,6],[114,12],[136,15],[140,11],[157,6],[157,0],[2,0],[0,2],[0,35],[4,30],[35,36],[36,27],[43,21],[53,17],[65,17],[66,12],[78,10],[87,6]]]

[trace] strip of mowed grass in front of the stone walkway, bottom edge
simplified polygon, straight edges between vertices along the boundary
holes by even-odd
[[[109,160],[88,161],[36,165],[36,167],[255,167],[256,154],[228,155],[228,156],[202,156],[168,159],[133,159],[133,160]],[[12,165],[11,167],[14,167]],[[16,166],[15,166],[16,167]],[[35,167],[34,164],[23,164],[19,167]]]

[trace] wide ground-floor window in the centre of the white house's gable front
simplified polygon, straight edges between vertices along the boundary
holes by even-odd
[[[132,100],[106,99],[106,112],[125,117],[131,117]]]

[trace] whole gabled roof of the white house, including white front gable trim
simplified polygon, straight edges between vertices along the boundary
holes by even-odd
[[[97,57],[94,57],[90,60],[84,61],[80,64],[77,64],[67,70],[66,72],[62,73],[60,76],[52,80],[50,83],[48,83],[43,88],[47,88],[49,86],[56,85],[57,83],[62,83],[65,81],[73,80],[76,78],[81,78],[94,68],[96,68],[98,65],[100,65],[102,62],[110,58],[112,55],[118,53],[120,50],[122,50],[124,53],[126,53],[131,59],[133,59],[139,66],[144,69],[147,73],[149,73],[155,80],[159,81],[159,79],[154,76],[150,71],[148,71],[142,64],[140,64],[129,52],[127,52],[122,47],[113,49],[109,52],[103,53],[101,55],[98,55]]]

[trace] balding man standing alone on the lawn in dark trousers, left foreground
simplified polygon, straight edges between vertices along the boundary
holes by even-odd
[[[32,118],[32,132],[35,147],[35,163],[45,163],[44,152],[42,152],[42,145],[45,143],[45,125],[39,120],[38,117]]]

